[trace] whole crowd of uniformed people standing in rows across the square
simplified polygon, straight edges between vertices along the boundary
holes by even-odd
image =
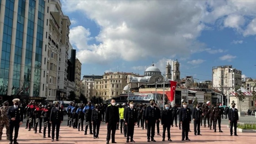
[[[23,122],[23,118],[26,119],[26,129],[34,131],[34,133],[43,133],[43,138],[51,138],[54,141],[56,135],[56,141],[59,141],[59,128],[63,122],[63,108],[60,107],[59,102],[54,104],[47,104],[43,106],[36,101],[30,101],[30,103],[23,109],[19,106],[19,99],[13,100],[13,106],[9,107],[9,102],[5,101],[3,107],[0,107],[0,140],[4,126],[6,127],[6,139],[10,140],[10,144],[18,144],[17,137],[19,126]],[[94,139],[99,139],[100,125],[102,122],[107,124],[107,144],[110,139],[112,143],[115,142],[116,130],[120,130],[123,136],[126,137],[128,142],[135,142],[133,139],[134,127],[141,127],[147,129],[147,141],[155,142],[155,126],[157,127],[157,135],[160,134],[160,122],[163,127],[162,141],[165,141],[165,132],[167,131],[167,140],[171,140],[171,127],[179,127],[182,129],[181,140],[188,140],[188,132],[190,131],[190,123],[193,120],[194,134],[202,135],[200,132],[200,125],[217,131],[217,121],[219,132],[221,130],[221,116],[223,114],[228,115],[230,125],[235,127],[238,122],[238,111],[235,108],[235,103],[232,103],[232,108],[219,107],[219,104],[203,105],[199,104],[194,108],[187,107],[187,102],[183,101],[181,108],[178,108],[175,104],[174,107],[166,104],[162,110],[157,107],[154,100],[151,100],[149,105],[146,104],[134,104],[133,101],[128,103],[118,104],[115,100],[111,100],[109,105],[95,104],[90,102],[88,104],[75,104],[71,102],[66,108],[68,121],[67,126],[76,128],[78,131],[84,131],[84,135],[91,134]],[[24,116],[23,116],[24,113]],[[179,123],[177,123],[177,118]],[[84,127],[85,121],[85,127]],[[42,125],[43,123],[43,125]],[[179,124],[179,126],[178,126]],[[88,130],[89,127],[89,130]],[[84,129],[85,128],[85,129]],[[15,130],[14,138],[13,131]],[[42,132],[43,131],[43,132]],[[87,133],[88,131],[88,133]],[[56,132],[56,134],[55,134]],[[232,136],[233,129],[230,128],[230,135]]]

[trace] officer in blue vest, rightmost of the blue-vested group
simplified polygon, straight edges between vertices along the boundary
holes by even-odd
[[[88,105],[83,109],[83,112],[85,113],[85,135],[87,134],[88,125],[90,128],[90,134],[93,134],[91,125],[91,112],[93,109],[94,106],[91,105],[91,102],[88,102]]]

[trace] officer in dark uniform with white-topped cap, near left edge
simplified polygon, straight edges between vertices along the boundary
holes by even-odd
[[[9,107],[9,110],[7,112],[7,116],[10,120],[10,143],[9,144],[12,144],[12,142],[13,144],[19,144],[17,142],[17,138],[18,138],[20,125],[23,122],[23,108],[19,106],[19,101],[20,99],[18,98],[13,99],[12,102],[14,106]],[[14,139],[12,139],[13,129],[15,130]]]

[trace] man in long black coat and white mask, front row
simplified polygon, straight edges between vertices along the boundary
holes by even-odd
[[[117,124],[119,123],[119,110],[118,110],[118,107],[115,105],[116,105],[116,101],[112,99],[111,105],[106,108],[105,121],[107,124],[107,144],[109,144],[111,131],[112,131],[112,135],[111,135],[112,143],[117,143],[115,142],[115,134],[116,134]]]

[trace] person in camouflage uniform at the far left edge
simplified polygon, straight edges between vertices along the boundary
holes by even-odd
[[[9,129],[9,119],[7,117],[7,112],[9,109],[9,102],[5,101],[3,107],[0,107],[0,140],[2,139],[3,129],[6,128],[6,139],[10,138],[10,129]]]

